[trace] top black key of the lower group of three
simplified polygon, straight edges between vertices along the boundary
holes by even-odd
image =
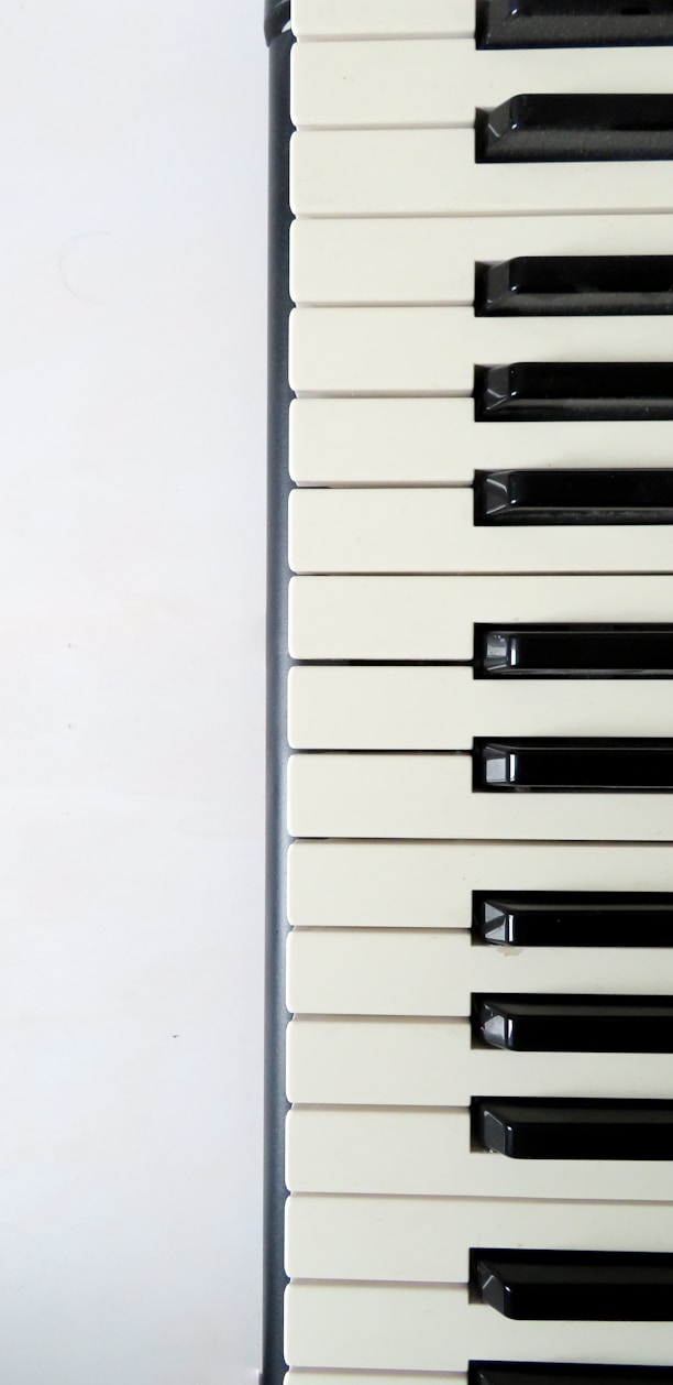
[[[472,936],[499,947],[673,947],[673,893],[476,891]]]

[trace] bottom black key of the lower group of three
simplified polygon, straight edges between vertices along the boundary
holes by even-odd
[[[508,1159],[673,1159],[673,1101],[478,1097],[472,1141]]]

